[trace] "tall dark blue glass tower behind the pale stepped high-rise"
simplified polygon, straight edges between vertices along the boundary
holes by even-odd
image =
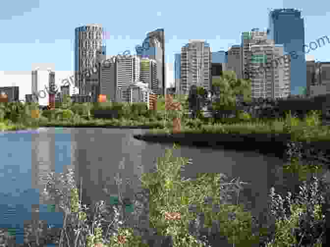
[[[305,36],[301,11],[292,8],[270,11],[268,37],[275,44],[282,44],[285,54],[296,54],[291,59],[291,94],[299,94],[299,88],[305,86],[306,82]]]

